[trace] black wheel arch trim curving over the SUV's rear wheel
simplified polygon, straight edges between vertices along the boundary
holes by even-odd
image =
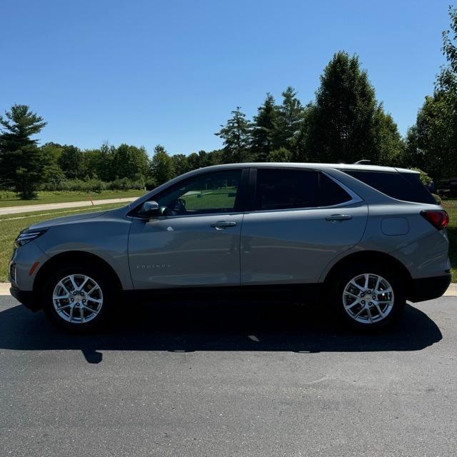
[[[348,256],[338,260],[328,271],[326,277],[323,281],[323,288],[326,290],[327,286],[330,286],[332,281],[336,278],[338,271],[345,268],[349,264],[357,262],[369,262],[369,263],[381,263],[383,266],[388,266],[393,268],[396,273],[401,275],[406,281],[406,295],[411,295],[413,288],[413,278],[411,273],[408,271],[408,268],[401,263],[397,258],[391,256],[388,253],[380,251],[361,251],[348,254]]]

